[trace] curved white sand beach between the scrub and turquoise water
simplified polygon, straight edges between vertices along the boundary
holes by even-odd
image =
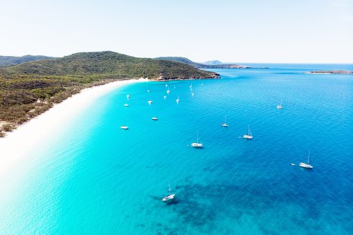
[[[0,138],[0,172],[8,170],[10,164],[15,163],[21,156],[24,156],[33,144],[40,142],[57,124],[69,121],[93,100],[116,88],[136,82],[147,82],[147,79],[116,81],[86,88],[19,126],[11,133],[8,133],[6,137]]]

